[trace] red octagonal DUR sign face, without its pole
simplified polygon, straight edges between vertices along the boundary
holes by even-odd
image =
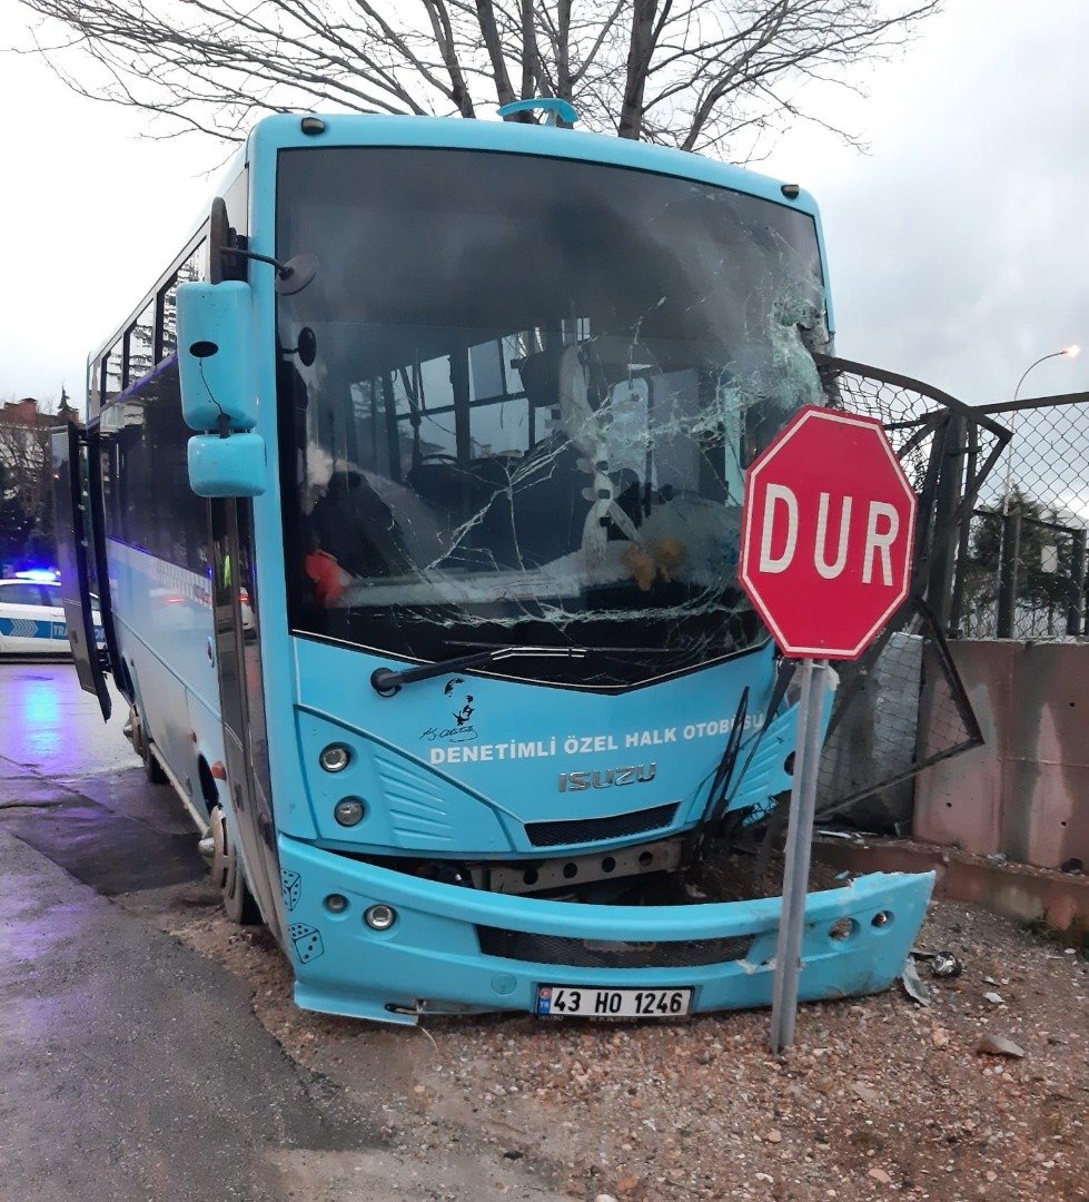
[[[915,490],[881,423],[810,405],[745,475],[739,576],[784,655],[857,659],[908,596]]]

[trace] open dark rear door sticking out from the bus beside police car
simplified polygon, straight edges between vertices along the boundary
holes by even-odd
[[[56,528],[56,560],[60,595],[72,657],[79,686],[99,698],[102,718],[109,720],[113,703],[106,684],[109,667],[95,638],[91,609],[90,564],[95,537],[102,537],[101,523],[91,520],[88,487],[88,440],[75,422],[50,435],[53,506]],[[109,585],[102,582],[102,602],[108,606]],[[102,614],[103,621],[106,613]]]

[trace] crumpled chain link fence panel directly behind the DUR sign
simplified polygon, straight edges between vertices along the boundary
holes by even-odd
[[[820,821],[895,829],[910,823],[916,773],[981,742],[944,613],[957,549],[1008,434],[922,381],[845,359],[820,365],[828,404],[881,421],[920,498],[909,601],[859,660],[835,665],[817,793]]]

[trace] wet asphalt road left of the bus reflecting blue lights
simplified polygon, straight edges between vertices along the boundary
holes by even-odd
[[[0,1200],[286,1197],[285,1158],[374,1129],[236,977],[109,900],[203,875],[123,710],[103,726],[71,664],[0,665]]]

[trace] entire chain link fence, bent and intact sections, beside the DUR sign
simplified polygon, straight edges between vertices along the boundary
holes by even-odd
[[[982,742],[946,636],[1087,633],[1089,394],[977,407],[867,364],[820,365],[828,405],[881,421],[920,508],[909,602],[837,665],[817,816],[903,832],[915,775]]]

